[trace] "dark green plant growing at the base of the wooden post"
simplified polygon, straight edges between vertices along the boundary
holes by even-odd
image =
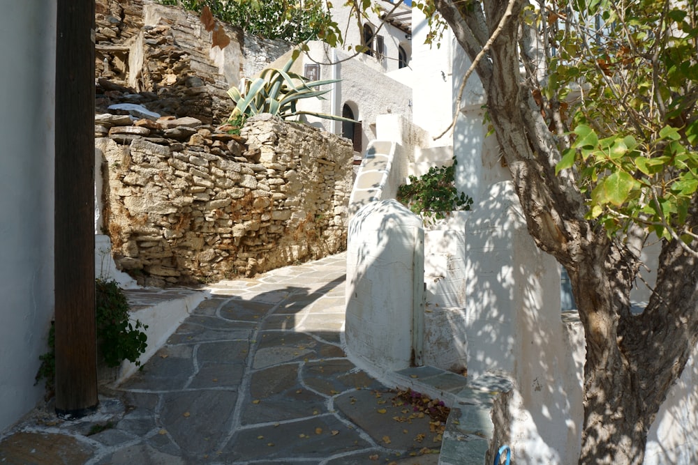
[[[118,367],[124,360],[140,365],[138,357],[145,352],[148,328],[128,316],[128,300],[114,280],[95,280],[95,311],[98,353],[107,367]],[[53,323],[48,333],[49,351],[39,356],[41,365],[36,383],[45,380],[47,393],[53,392],[56,376],[56,337]]]

